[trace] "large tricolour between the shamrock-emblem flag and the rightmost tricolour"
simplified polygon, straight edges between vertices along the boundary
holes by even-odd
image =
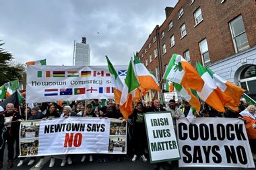
[[[220,88],[214,82],[211,75],[207,72],[198,61],[196,65],[197,71],[204,81],[203,89],[201,92],[197,92],[199,97],[219,112],[225,112],[224,105],[228,103],[231,98],[222,93]]]

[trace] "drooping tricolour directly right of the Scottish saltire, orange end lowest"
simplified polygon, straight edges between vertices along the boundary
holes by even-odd
[[[125,84],[123,85],[123,91],[120,100],[120,110],[125,120],[133,113],[133,97],[136,95],[136,89],[139,87],[139,81],[137,80],[134,64],[131,58],[127,75],[125,78]]]

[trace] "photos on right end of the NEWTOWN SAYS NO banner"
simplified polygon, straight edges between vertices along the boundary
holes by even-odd
[[[108,153],[126,154],[127,122],[123,120],[110,120],[110,136]]]

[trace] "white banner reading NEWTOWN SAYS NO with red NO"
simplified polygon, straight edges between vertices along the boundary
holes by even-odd
[[[105,118],[56,118],[21,124],[20,157],[126,154],[127,122]]]

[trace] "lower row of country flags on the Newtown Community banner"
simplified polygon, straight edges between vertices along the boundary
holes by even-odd
[[[98,87],[98,89],[86,89],[83,88],[67,88],[67,89],[44,89],[44,96],[54,96],[54,95],[84,95],[85,93],[113,93],[113,87]]]

